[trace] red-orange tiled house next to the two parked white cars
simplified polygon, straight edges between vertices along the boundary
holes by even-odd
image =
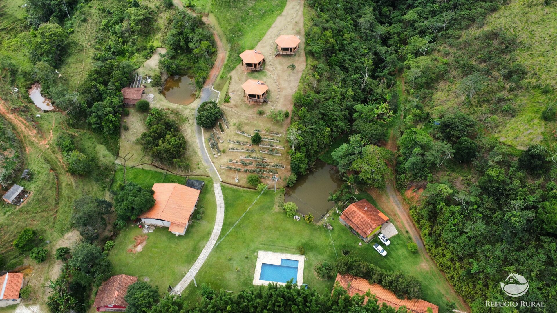
[[[383,227],[383,224],[389,221],[389,218],[368,200],[363,199],[344,209],[339,221],[368,243],[373,239],[373,235]]]

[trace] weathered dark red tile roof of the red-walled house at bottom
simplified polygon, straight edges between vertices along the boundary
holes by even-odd
[[[124,274],[110,277],[102,283],[97,291],[93,306],[120,305],[128,306],[124,296],[128,293],[128,286],[138,281],[137,277]]]

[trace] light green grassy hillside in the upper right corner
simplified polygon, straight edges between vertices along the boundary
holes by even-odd
[[[467,111],[485,124],[488,133],[518,149],[524,150],[536,143],[553,145],[556,124],[544,121],[541,114],[547,105],[554,105],[553,90],[557,87],[556,43],[551,40],[557,36],[555,26],[556,3],[544,6],[541,1],[514,0],[488,17],[481,27],[463,32],[456,41],[448,40],[437,53],[448,61],[449,75],[434,90],[431,102],[427,104],[429,111],[434,116],[447,111]],[[484,60],[497,57],[495,53],[483,55],[487,51],[481,48],[478,51],[478,46],[473,43],[480,41],[486,32],[498,32],[512,38],[511,51],[502,54],[506,64],[499,68],[490,66],[492,59]],[[472,42],[469,53],[458,51],[463,42]],[[458,60],[462,57],[473,60],[473,65],[467,66],[479,69],[486,80],[470,105],[458,92],[468,74],[463,75],[465,70]],[[524,66],[524,79],[518,82],[512,77],[501,80],[501,70],[510,70],[514,64]],[[548,87],[544,90],[546,85]]]

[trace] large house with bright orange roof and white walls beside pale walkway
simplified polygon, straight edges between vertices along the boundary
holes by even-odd
[[[168,227],[176,236],[183,235],[192,221],[201,190],[181,184],[154,184],[155,205],[138,218],[142,223]]]

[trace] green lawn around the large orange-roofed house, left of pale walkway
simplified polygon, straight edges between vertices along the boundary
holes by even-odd
[[[114,182],[120,182],[123,174],[123,167],[119,166]],[[128,248],[133,246],[135,236],[142,236],[144,233],[135,224],[130,224],[120,231],[115,239],[115,246],[110,251],[114,275],[126,274],[138,276],[140,280],[148,279],[164,294],[169,285],[176,285],[188,272],[211,236],[217,214],[212,179],[195,179],[206,182],[198,202],[198,208],[203,206],[205,210],[203,218],[199,221],[194,219],[184,236],[176,237],[168,228],[156,228],[154,232],[148,233],[143,250],[135,254],[129,253]],[[135,168],[127,169],[126,181],[149,188],[153,187],[153,183],[185,182],[184,177]]]

